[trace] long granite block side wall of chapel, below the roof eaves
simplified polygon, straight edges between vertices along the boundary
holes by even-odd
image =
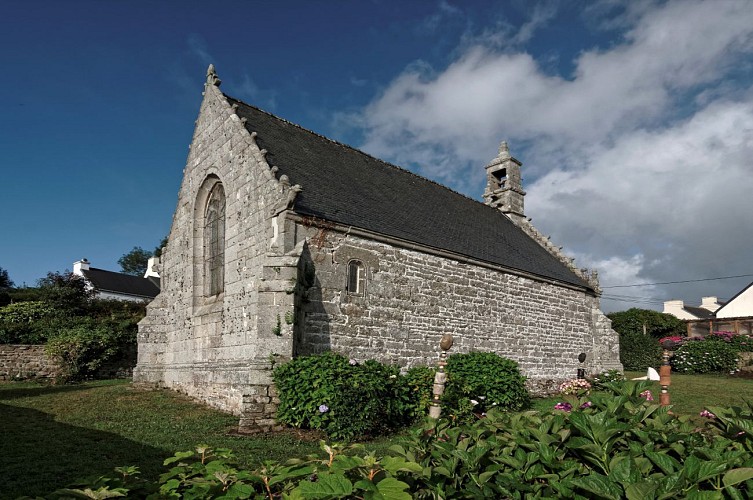
[[[621,369],[617,336],[593,294],[352,234],[299,230],[306,231],[316,279],[301,305],[300,354],[336,350],[411,367],[435,362],[440,337],[450,333],[451,352],[514,359],[536,392],[575,377],[581,352],[589,372]],[[346,290],[353,259],[367,269],[363,296]]]

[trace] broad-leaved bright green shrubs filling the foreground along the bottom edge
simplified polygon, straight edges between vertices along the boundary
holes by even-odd
[[[391,456],[322,443],[323,455],[244,470],[200,446],[156,482],[126,467],[46,498],[753,498],[753,405],[709,408],[698,432],[640,396],[649,382],[607,384],[570,411],[429,421]]]

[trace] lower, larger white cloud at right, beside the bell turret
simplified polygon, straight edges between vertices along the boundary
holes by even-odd
[[[728,275],[753,248],[752,157],[753,100],[719,102],[664,130],[625,134],[577,169],[553,169],[528,187],[527,208],[576,252],[640,249],[641,269],[665,279]]]

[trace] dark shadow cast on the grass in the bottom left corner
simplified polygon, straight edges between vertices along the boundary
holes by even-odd
[[[56,422],[28,408],[0,404],[0,422],[2,499],[44,495],[90,476],[113,476],[113,469],[123,465],[138,465],[143,477],[156,478],[172,455],[116,434]]]

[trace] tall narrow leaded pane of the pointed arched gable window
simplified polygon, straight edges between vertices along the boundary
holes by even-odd
[[[225,191],[219,182],[209,193],[204,221],[205,290],[212,296],[225,289]]]

